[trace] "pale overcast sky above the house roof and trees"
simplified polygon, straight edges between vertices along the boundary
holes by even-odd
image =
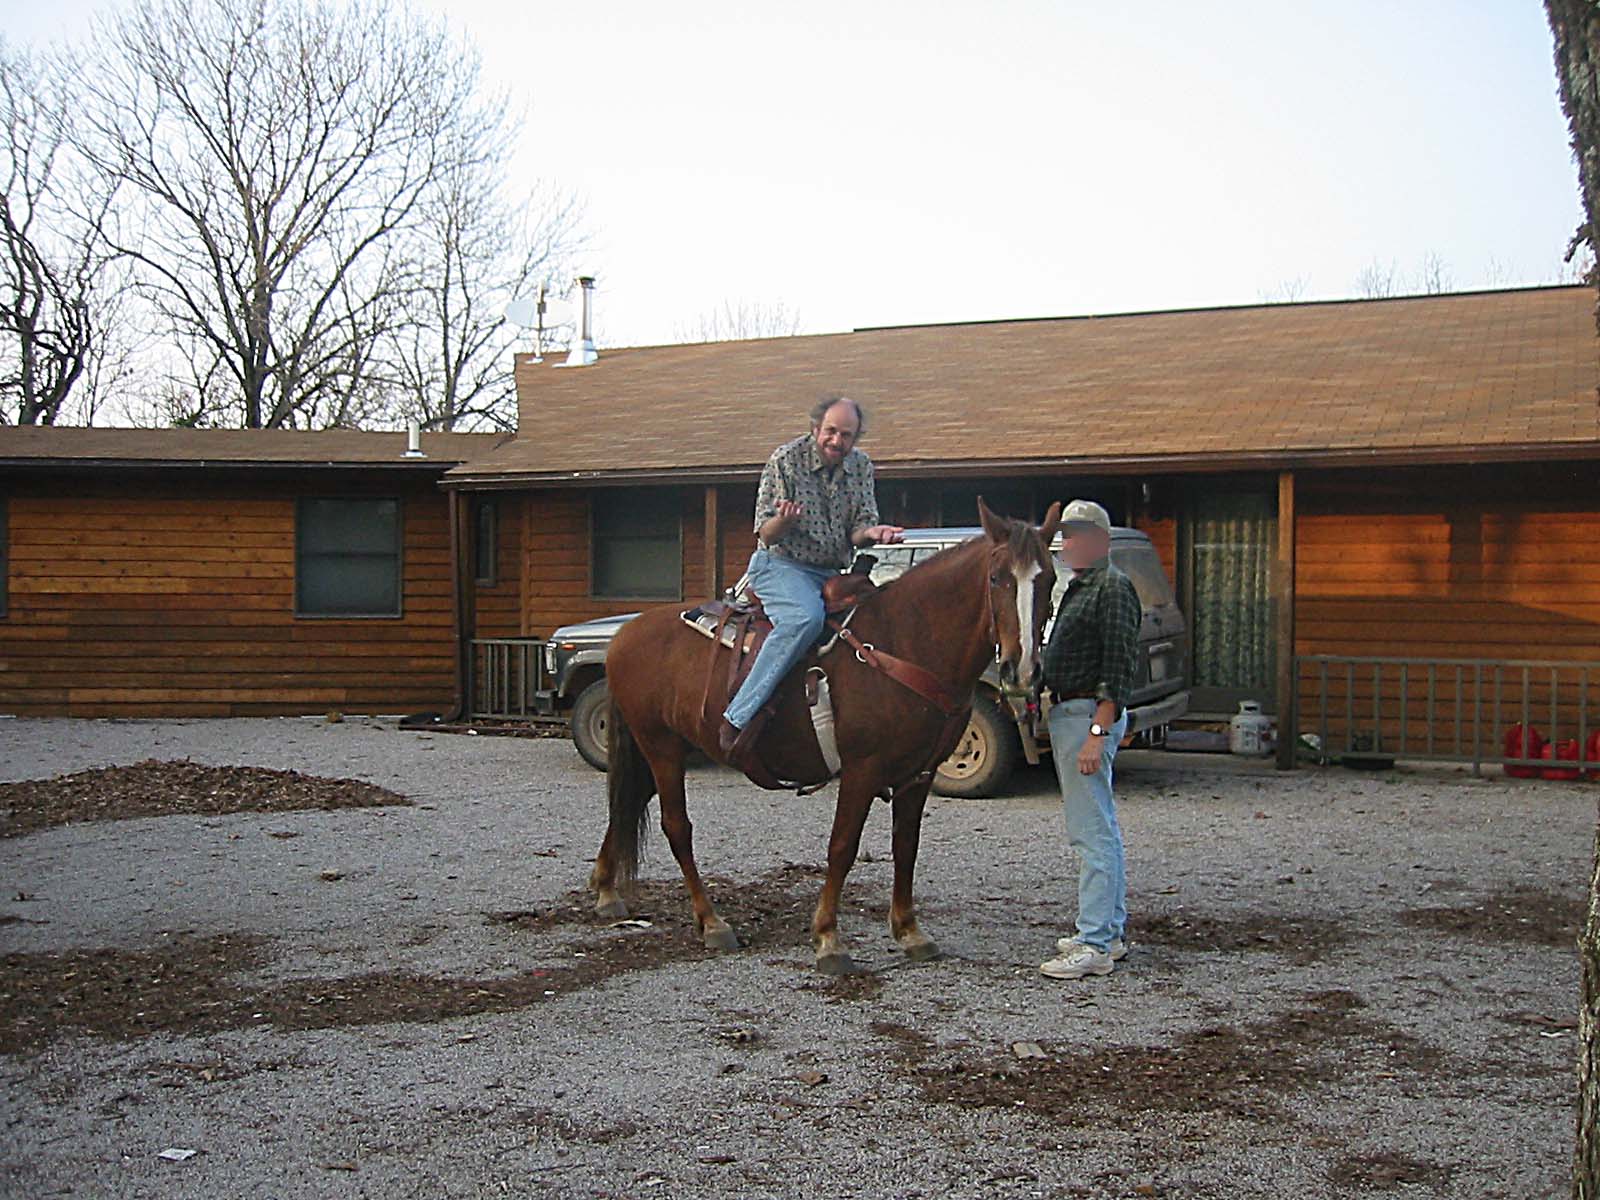
[[[603,344],[1554,282],[1579,219],[1538,0],[422,3],[584,198]]]

